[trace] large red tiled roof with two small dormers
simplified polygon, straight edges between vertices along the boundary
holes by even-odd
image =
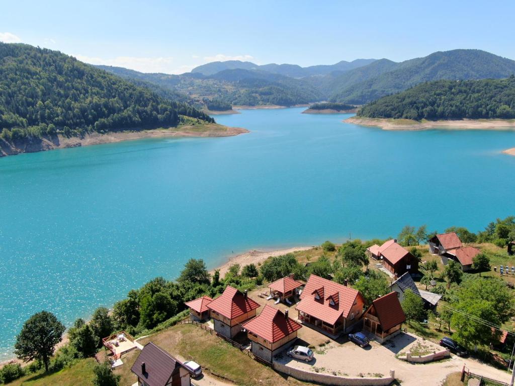
[[[321,296],[320,300],[316,300],[313,293],[320,289],[323,289],[326,294],[333,295],[338,293],[338,303],[335,302],[336,304],[332,306],[329,297],[324,299],[323,296]],[[353,288],[311,275],[307,280],[304,291],[300,295],[301,300],[295,309],[310,314],[326,323],[335,324],[342,315],[344,318],[347,318],[357,296],[361,296],[361,294]]]

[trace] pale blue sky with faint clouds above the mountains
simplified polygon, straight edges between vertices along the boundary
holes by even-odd
[[[513,1],[4,1],[0,40],[143,72],[214,60],[402,61],[479,48],[515,59]]]

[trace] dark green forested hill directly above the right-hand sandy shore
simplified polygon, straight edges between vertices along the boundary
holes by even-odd
[[[515,118],[515,77],[419,84],[359,110],[369,118]]]

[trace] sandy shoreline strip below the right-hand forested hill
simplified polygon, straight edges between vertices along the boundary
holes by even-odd
[[[422,120],[382,119],[353,116],[344,120],[346,123],[379,127],[383,130],[515,130],[515,119],[459,119],[459,120]]]

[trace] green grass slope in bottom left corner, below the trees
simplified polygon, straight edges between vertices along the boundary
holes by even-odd
[[[93,367],[96,361],[93,358],[77,361],[72,367],[63,369],[53,374],[30,374],[17,379],[11,386],[56,386],[71,385],[91,386],[93,380]],[[134,383],[134,382],[132,382]]]

